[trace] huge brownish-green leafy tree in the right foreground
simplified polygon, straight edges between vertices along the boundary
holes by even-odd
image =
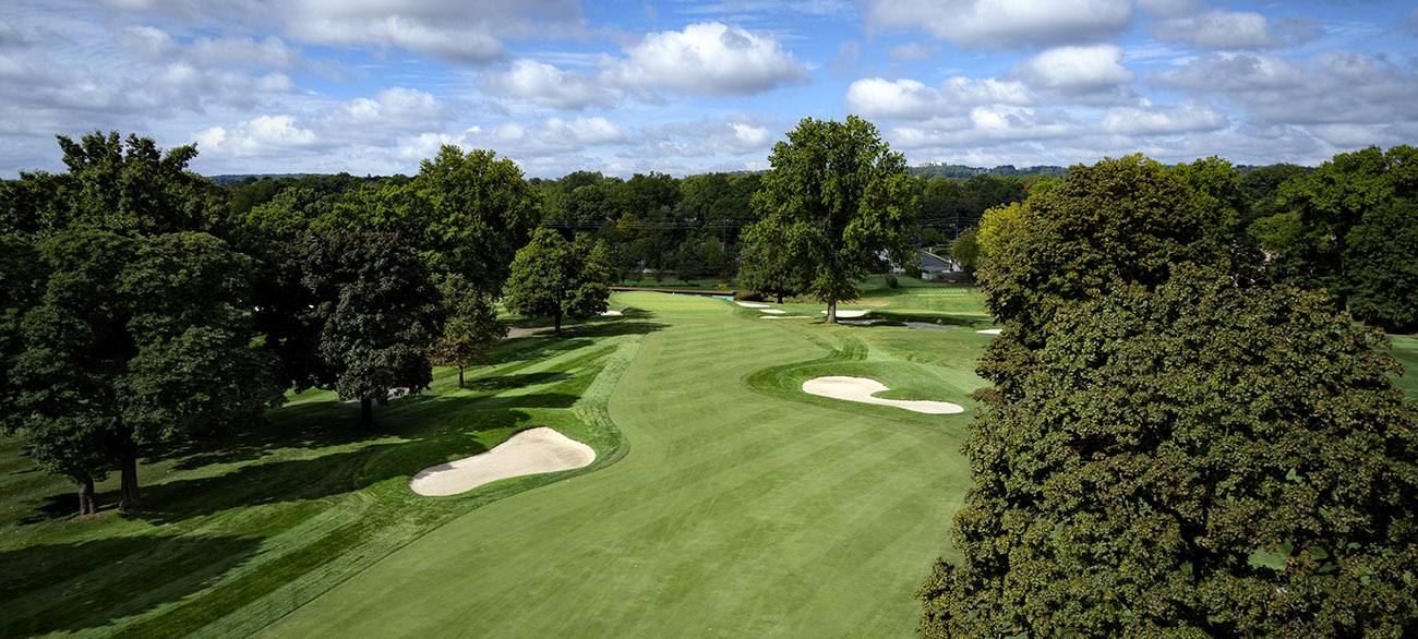
[[[1418,633],[1418,415],[1380,333],[1190,268],[1048,332],[963,445],[922,636]]]

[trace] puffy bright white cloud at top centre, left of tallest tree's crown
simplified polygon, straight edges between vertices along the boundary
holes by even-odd
[[[621,85],[691,95],[753,95],[805,82],[807,69],[773,35],[720,23],[659,31],[625,48]]]

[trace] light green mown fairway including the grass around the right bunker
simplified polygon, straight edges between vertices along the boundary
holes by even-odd
[[[655,327],[610,394],[624,459],[452,519],[259,635],[910,636],[912,594],[970,483],[957,448],[973,411],[793,384],[878,370],[893,397],[967,407],[978,384],[893,356],[909,329],[759,322],[657,293],[614,306]],[[986,340],[953,333],[971,361]]]

